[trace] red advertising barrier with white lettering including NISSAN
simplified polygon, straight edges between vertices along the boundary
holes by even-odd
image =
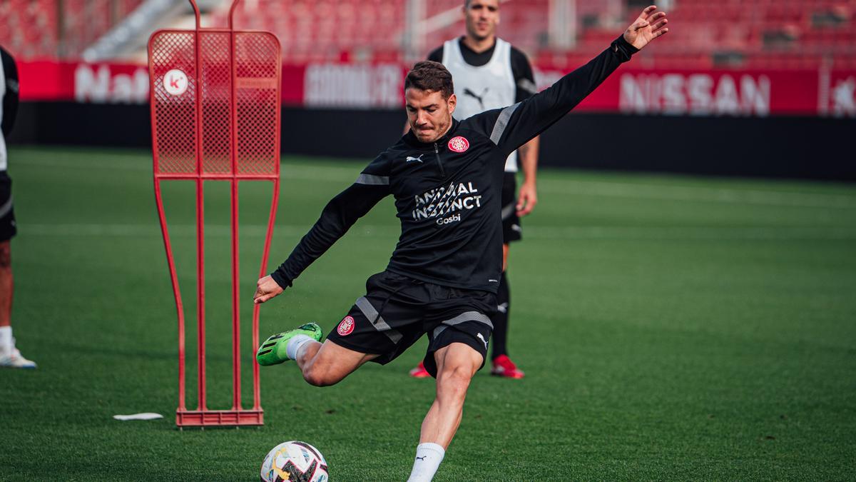
[[[144,104],[145,67],[121,63],[19,65],[21,99]],[[308,63],[282,69],[283,105],[396,109],[407,67],[398,63]],[[564,72],[538,70],[538,87]],[[577,108],[582,112],[692,116],[856,117],[856,70],[619,69]]]

